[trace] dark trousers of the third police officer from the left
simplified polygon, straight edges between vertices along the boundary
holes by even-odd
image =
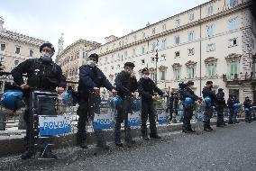
[[[132,139],[131,128],[128,124],[128,113],[133,113],[133,98],[124,97],[123,105],[121,108],[117,109],[117,114],[115,116],[114,125],[114,142],[121,143],[121,123],[124,121],[124,133],[126,142],[130,142]]]

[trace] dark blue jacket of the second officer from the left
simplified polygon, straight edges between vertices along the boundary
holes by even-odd
[[[79,67],[78,99],[87,101],[89,91],[92,91],[94,87],[105,87],[109,91],[113,90],[113,85],[98,67],[89,67],[88,65]]]

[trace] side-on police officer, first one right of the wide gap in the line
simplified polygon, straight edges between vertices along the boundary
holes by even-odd
[[[183,92],[183,106],[185,110],[184,119],[183,119],[183,125],[182,125],[182,131],[185,133],[189,132],[195,132],[195,130],[192,130],[190,120],[193,116],[193,110],[194,110],[194,102],[200,100],[200,98],[194,93],[194,91],[191,89],[191,86],[194,85],[194,82],[188,81],[187,86],[184,88]],[[189,97],[193,101],[191,105],[187,105],[185,103],[185,99]]]

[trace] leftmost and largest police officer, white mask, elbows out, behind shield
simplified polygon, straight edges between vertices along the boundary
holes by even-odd
[[[25,146],[26,151],[23,153],[22,158],[26,159],[32,157],[34,151],[34,136],[36,133],[32,129],[32,109],[30,102],[34,99],[30,97],[32,90],[44,90],[44,91],[56,91],[58,93],[63,93],[66,87],[66,77],[62,75],[61,68],[55,64],[51,57],[53,56],[55,50],[50,42],[43,43],[40,47],[41,58],[30,58],[12,70],[12,76],[14,77],[14,82],[20,85],[23,89],[25,103],[27,108],[24,112],[24,121],[26,122],[26,136],[25,136]],[[23,81],[23,74],[27,74],[27,83]],[[41,113],[43,115],[49,115],[55,113],[54,102],[48,100],[41,100]],[[43,141],[44,150],[47,146],[47,141]],[[52,154],[50,148],[46,148],[45,152],[42,153],[42,157],[56,157]]]

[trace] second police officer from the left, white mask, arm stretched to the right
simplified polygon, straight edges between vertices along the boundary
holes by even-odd
[[[94,118],[94,113],[100,113],[100,87],[104,86],[107,90],[115,93],[113,85],[106,79],[103,72],[96,67],[98,55],[91,54],[88,57],[87,65],[79,67],[78,81],[78,132],[77,144],[81,148],[87,148],[86,124],[88,119]],[[96,146],[98,148],[109,149],[106,145],[102,130],[95,130]]]

